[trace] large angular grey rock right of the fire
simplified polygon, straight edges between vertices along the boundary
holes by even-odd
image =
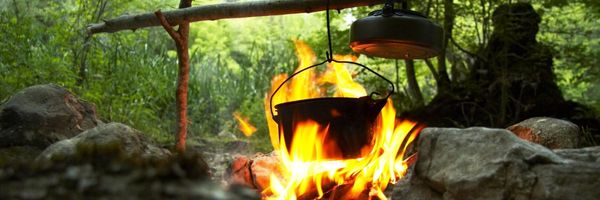
[[[504,129],[426,128],[413,185],[442,199],[597,199],[600,162],[588,158],[597,150],[557,154]],[[415,196],[400,191],[394,197]]]

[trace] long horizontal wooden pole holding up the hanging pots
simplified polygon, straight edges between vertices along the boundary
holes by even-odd
[[[330,9],[341,10],[359,6],[381,4],[384,0],[329,0]],[[222,3],[189,7],[163,12],[169,24],[180,24],[183,21],[195,22],[228,18],[258,17],[285,15],[293,13],[311,13],[325,10],[327,0],[261,0],[250,2]],[[112,33],[121,30],[160,26],[155,13],[124,15],[103,23],[90,24],[88,34]]]

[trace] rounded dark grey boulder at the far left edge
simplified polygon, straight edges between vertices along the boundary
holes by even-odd
[[[101,123],[93,104],[56,85],[23,89],[0,106],[0,147],[47,147]]]

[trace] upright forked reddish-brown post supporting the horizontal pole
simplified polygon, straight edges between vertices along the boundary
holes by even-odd
[[[181,0],[179,8],[192,6],[191,0]],[[177,134],[175,148],[179,153],[185,152],[185,140],[187,136],[187,95],[188,80],[190,72],[190,55],[188,49],[188,38],[190,34],[190,23],[187,20],[181,21],[177,32],[171,27],[165,16],[160,10],[154,13],[163,28],[169,33],[169,36],[175,41],[177,48],[177,60],[179,62],[179,72],[177,74]]]

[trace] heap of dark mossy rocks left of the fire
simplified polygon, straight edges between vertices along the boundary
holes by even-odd
[[[0,105],[0,185],[0,199],[259,198],[212,181],[198,152],[171,155],[134,128],[102,123],[92,104],[56,85]]]

